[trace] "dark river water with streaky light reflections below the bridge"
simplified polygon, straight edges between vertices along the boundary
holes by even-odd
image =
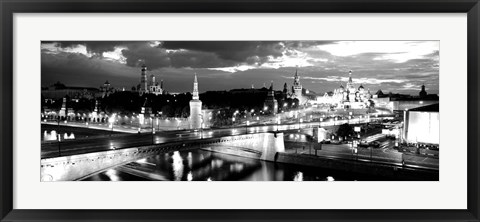
[[[148,157],[109,169],[85,180],[353,181],[379,180],[379,178],[367,178],[334,170],[192,150]]]

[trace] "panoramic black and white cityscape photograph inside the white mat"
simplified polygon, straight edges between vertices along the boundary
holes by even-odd
[[[42,182],[439,181],[437,40],[40,51]]]

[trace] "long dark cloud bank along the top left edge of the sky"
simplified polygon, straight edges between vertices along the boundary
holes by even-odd
[[[103,52],[124,47],[127,66],[146,63],[151,69],[163,67],[216,68],[241,64],[261,65],[268,58],[282,56],[285,45],[278,41],[166,41],[156,47],[150,42],[122,41],[45,41],[60,48],[84,45],[87,52],[102,56]]]

